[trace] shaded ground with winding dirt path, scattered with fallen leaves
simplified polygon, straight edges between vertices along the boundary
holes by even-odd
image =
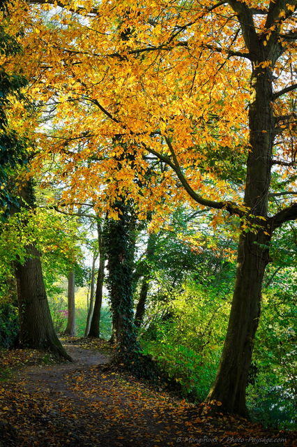
[[[204,406],[105,370],[100,342],[70,342],[72,364],[36,365],[40,353],[27,351],[22,369],[0,383],[1,447],[297,446],[292,433],[209,418]]]

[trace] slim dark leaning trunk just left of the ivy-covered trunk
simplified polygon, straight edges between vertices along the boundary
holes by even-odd
[[[102,242],[102,227],[98,221],[99,268],[95,294],[95,304],[88,337],[100,337],[100,316],[103,298],[103,281],[105,269],[105,251]]]

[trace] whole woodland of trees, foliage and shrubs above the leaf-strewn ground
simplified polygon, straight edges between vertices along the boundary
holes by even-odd
[[[254,420],[294,427],[295,11],[3,2],[3,347],[53,347],[66,313],[73,334],[76,281],[79,335],[125,366],[141,350],[185,397],[243,414],[246,388]]]

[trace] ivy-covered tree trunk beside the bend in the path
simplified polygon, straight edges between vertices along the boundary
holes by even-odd
[[[107,258],[107,287],[112,309],[112,342],[116,345],[114,362],[136,377],[158,381],[162,372],[150,356],[144,356],[137,341],[133,322],[133,275],[135,216],[124,201],[114,204],[119,219],[107,219],[104,232]]]

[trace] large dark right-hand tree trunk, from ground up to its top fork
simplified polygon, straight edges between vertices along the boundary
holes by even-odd
[[[261,56],[265,60],[265,55]],[[250,150],[245,186],[245,206],[249,212],[241,226],[227,337],[220,367],[207,397],[207,402],[219,401],[222,403],[220,408],[242,416],[246,416],[245,389],[259,323],[261,286],[269,261],[268,244],[272,233],[272,222],[268,218],[268,191],[275,135],[271,105],[273,73],[271,66],[262,68],[260,62],[261,59],[253,64],[251,81]],[[244,228],[247,233],[244,233]]]

